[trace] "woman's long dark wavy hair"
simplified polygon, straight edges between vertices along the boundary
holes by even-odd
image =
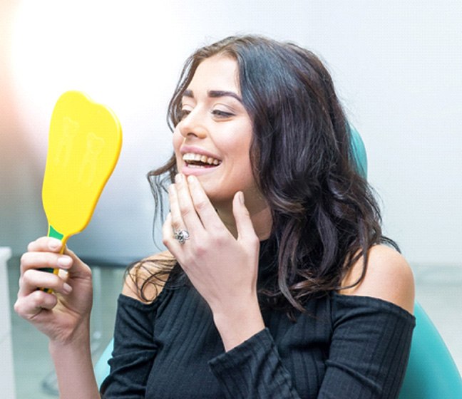
[[[310,296],[340,289],[363,257],[358,284],[368,249],[396,244],[382,235],[379,206],[355,165],[349,125],[329,72],[314,53],[294,43],[225,38],[185,62],[168,107],[171,129],[180,122],[183,93],[197,66],[217,55],[237,61],[242,103],[253,122],[253,175],[272,212],[274,280],[260,294],[272,306],[302,310]],[[173,156],[148,174],[158,214],[165,185],[176,173]],[[178,264],[170,266],[164,270],[181,274]],[[141,294],[155,275],[141,281]]]

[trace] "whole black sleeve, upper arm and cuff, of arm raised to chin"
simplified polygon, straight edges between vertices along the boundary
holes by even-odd
[[[316,398],[397,398],[414,316],[379,299],[336,297],[329,358]],[[213,358],[209,366],[227,398],[300,398],[268,329]]]

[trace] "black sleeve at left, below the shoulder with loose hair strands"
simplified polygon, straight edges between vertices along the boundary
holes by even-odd
[[[140,399],[145,388],[157,344],[153,336],[160,298],[151,304],[120,294],[114,329],[114,349],[108,361],[111,373],[101,384],[102,398]]]

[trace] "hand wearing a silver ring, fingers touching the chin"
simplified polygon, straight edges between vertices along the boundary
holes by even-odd
[[[225,348],[229,349],[227,341],[235,346],[265,327],[257,300],[260,240],[244,195],[237,192],[232,200],[237,238],[225,227],[196,177],[187,180],[177,175],[175,185],[170,186],[169,199],[163,243],[207,301]],[[189,237],[182,243],[175,235],[184,230]],[[242,336],[243,331],[247,336]]]

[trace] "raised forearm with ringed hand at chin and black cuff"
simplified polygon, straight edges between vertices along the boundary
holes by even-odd
[[[210,362],[227,398],[299,398],[265,329],[257,300],[260,240],[242,192],[232,201],[237,237],[225,227],[195,177],[177,176],[163,243],[207,301],[226,353]],[[187,229],[180,244],[174,231]],[[226,359],[235,359],[227,363]],[[277,384],[277,387],[275,386]]]

